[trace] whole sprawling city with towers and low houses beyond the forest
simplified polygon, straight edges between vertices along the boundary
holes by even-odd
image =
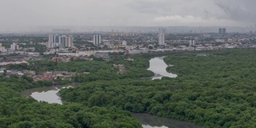
[[[216,33],[168,34],[165,28],[158,33],[99,32],[72,34],[68,29],[55,29],[51,34],[2,34],[0,35],[0,74],[6,76],[28,74],[34,81],[57,77],[72,78],[72,73],[43,72],[34,70],[6,70],[10,64],[29,64],[29,60],[52,60],[70,62],[74,59],[108,61],[109,54],[141,54],[185,50],[219,50],[232,48],[255,48],[256,34],[226,33],[219,28]],[[202,54],[204,55],[204,54]],[[63,74],[66,75],[63,75]]]

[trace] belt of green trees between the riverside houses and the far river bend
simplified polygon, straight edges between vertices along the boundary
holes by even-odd
[[[124,78],[145,78],[154,76],[149,67],[149,54],[132,56],[134,61],[125,60],[123,55],[113,54],[110,61],[74,61],[74,62],[54,62],[51,60],[30,61],[30,65],[19,64],[6,66],[7,70],[35,70],[36,74],[45,71],[68,71],[75,73],[74,82],[92,82],[98,80],[113,80]],[[123,64],[126,74],[118,74],[118,69],[114,64]]]

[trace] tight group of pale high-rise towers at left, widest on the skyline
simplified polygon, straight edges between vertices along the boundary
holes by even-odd
[[[50,34],[49,35],[49,40],[46,42],[46,47],[49,49],[66,49],[66,48],[73,48],[73,36],[72,35],[54,35]]]

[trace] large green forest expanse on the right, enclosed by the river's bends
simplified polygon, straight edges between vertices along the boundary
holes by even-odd
[[[178,78],[85,82],[61,90],[62,99],[88,107],[116,106],[206,127],[255,127],[255,54],[254,49],[169,53],[165,62],[174,66],[167,70]],[[146,57],[140,54],[134,62],[146,59],[142,56]]]

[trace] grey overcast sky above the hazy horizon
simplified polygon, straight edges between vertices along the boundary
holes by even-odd
[[[10,26],[250,26],[256,0],[0,0]]]

